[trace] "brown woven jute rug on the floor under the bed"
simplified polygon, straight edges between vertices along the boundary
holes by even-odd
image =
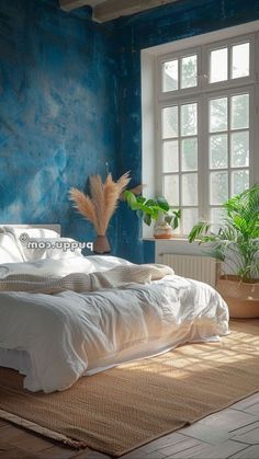
[[[0,381],[0,417],[119,457],[259,391],[259,320],[232,323],[219,343],[121,365],[64,392],[29,392],[9,369]]]

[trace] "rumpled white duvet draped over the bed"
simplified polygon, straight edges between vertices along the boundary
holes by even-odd
[[[0,278],[59,277],[125,263],[113,256],[10,263],[0,265]],[[176,275],[87,294],[0,292],[0,348],[27,353],[24,387],[31,391],[65,390],[80,376],[227,333],[222,297],[206,284]]]

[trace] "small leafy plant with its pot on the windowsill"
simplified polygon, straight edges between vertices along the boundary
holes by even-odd
[[[128,190],[124,191],[124,198],[132,210],[143,218],[148,226],[155,220],[154,236],[157,239],[169,239],[173,236],[173,229],[179,226],[180,210],[173,210],[164,196],[147,199],[144,196],[135,196]]]

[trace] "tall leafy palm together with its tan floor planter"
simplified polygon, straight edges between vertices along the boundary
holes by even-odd
[[[224,262],[216,288],[233,318],[259,317],[259,184],[224,203],[226,217],[217,232],[199,222],[189,241],[205,243],[209,253]],[[221,264],[221,266],[223,266]],[[227,273],[226,273],[227,271]]]

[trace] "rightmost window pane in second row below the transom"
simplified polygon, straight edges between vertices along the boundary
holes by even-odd
[[[232,167],[249,165],[249,133],[232,134]]]

